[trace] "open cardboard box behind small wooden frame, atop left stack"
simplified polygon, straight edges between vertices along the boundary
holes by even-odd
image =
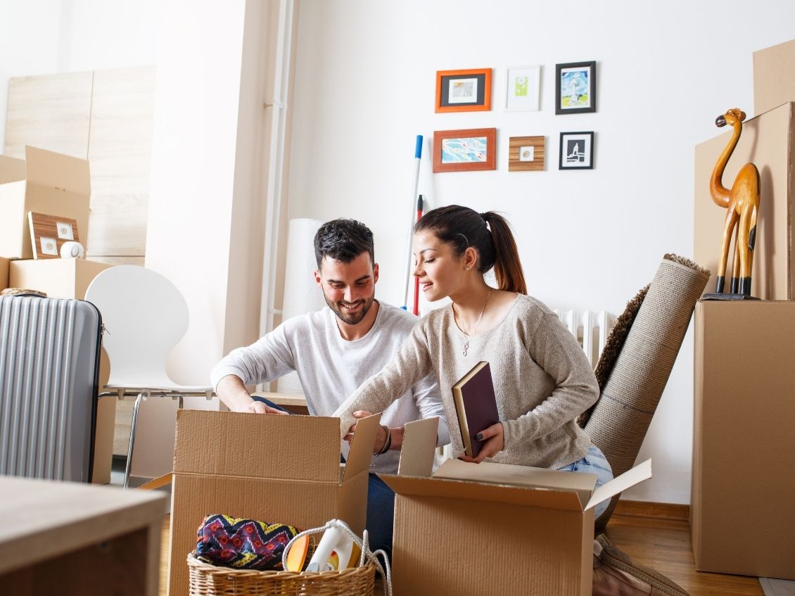
[[[33,258],[29,211],[77,220],[87,250],[91,175],[78,157],[25,147],[25,160],[0,156],[0,255]]]

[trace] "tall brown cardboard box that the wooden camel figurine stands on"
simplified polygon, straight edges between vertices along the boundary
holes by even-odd
[[[696,569],[795,579],[795,302],[700,301]]]

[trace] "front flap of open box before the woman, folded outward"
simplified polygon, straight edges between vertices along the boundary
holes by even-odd
[[[378,474],[378,476],[395,493],[404,496],[491,501],[507,505],[548,507],[549,509],[568,511],[583,510],[580,497],[574,490],[526,488],[447,478],[394,476],[392,474]]]

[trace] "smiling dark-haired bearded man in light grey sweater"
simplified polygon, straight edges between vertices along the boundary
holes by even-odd
[[[315,281],[328,308],[293,317],[248,347],[233,350],[212,370],[221,401],[234,412],[285,413],[255,401],[246,385],[297,371],[309,413],[331,416],[367,378],[390,362],[417,323],[416,317],[375,300],[378,264],[373,233],[352,219],[324,223],[315,235]],[[403,426],[439,417],[438,444],[449,443],[436,378],[414,385],[382,413],[371,465],[373,472],[397,472]],[[382,453],[378,453],[382,451]],[[391,555],[394,493],[370,474],[366,527],[373,550]]]

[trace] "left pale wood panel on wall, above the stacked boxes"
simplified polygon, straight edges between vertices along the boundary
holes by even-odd
[[[93,72],[19,76],[8,83],[6,148],[25,159],[25,145],[85,159]]]

